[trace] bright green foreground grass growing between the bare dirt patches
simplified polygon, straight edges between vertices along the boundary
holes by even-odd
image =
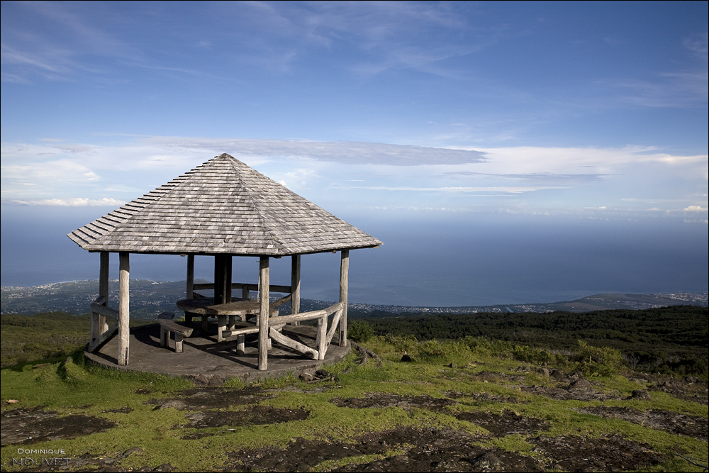
[[[480,346],[470,343],[415,343],[406,338],[372,338],[365,343],[369,349],[379,353],[383,364],[378,367],[374,362],[357,367],[356,357],[352,354],[335,365],[325,367],[337,375],[335,381],[308,384],[289,375],[278,379],[265,379],[259,384],[252,384],[262,389],[272,390],[274,397],[259,401],[261,406],[274,408],[302,408],[309,411],[303,421],[272,425],[250,425],[240,428],[189,428],[186,426],[186,411],[174,408],[155,410],[153,404],[145,404],[152,398],[177,396],[180,391],[194,387],[182,378],[166,377],[158,374],[136,372],[117,372],[84,363],[81,351],[73,352],[61,361],[24,362],[1,369],[0,395],[2,411],[12,408],[32,408],[45,406],[47,410],[57,411],[59,416],[82,413],[87,416],[99,416],[114,421],[117,425],[103,433],[86,435],[72,440],[52,440],[30,445],[31,448],[65,449],[67,457],[118,457],[121,452],[131,447],[141,447],[139,452],[121,460],[122,468],[157,467],[170,463],[175,469],[196,471],[223,469],[227,452],[248,448],[279,447],[283,448],[293,438],[308,440],[354,441],[363,433],[387,430],[393,426],[415,426],[417,428],[454,428],[467,430],[474,435],[482,435],[485,430],[473,423],[458,421],[457,411],[486,411],[502,413],[514,411],[519,415],[540,418],[551,423],[547,436],[586,435],[597,437],[605,433],[620,433],[625,438],[649,445],[658,452],[705,458],[707,443],[681,435],[672,435],[661,430],[645,428],[618,419],[606,419],[580,413],[575,409],[588,406],[629,406],[640,411],[661,409],[709,416],[707,406],[682,401],[661,392],[653,392],[651,400],[642,401],[556,401],[545,396],[536,396],[520,391],[518,386],[505,382],[503,374],[518,374],[515,369],[522,366],[537,367],[513,358],[514,352],[501,353],[501,347]],[[471,346],[472,345],[472,346]],[[493,344],[494,345],[494,344]],[[401,362],[402,350],[410,353],[414,362]],[[518,350],[519,351],[519,350]],[[532,353],[532,355],[534,355]],[[63,356],[63,355],[62,355]],[[524,356],[531,356],[527,352]],[[534,355],[536,356],[536,355]],[[446,367],[450,362],[457,368]],[[549,365],[552,367],[552,365]],[[573,366],[564,365],[566,369]],[[348,371],[350,370],[350,371]],[[485,370],[497,373],[498,382],[483,382],[476,374]],[[526,381],[544,385],[551,381],[536,372],[526,374]],[[642,389],[641,384],[632,382],[620,374],[594,377],[603,389],[617,391],[623,397],[629,396],[633,389]],[[225,386],[240,389],[244,384],[237,379],[230,379]],[[322,389],[326,387],[328,389]],[[147,389],[150,394],[137,394],[136,391]],[[458,391],[468,396],[457,399],[458,404],[449,406],[440,412],[413,408],[405,410],[396,406],[385,408],[340,408],[330,401],[335,398],[371,396],[372,393],[398,394],[401,396],[428,395],[443,398],[450,391]],[[140,391],[138,391],[140,392]],[[488,401],[469,396],[486,392],[491,396],[513,398],[517,404]],[[6,404],[9,399],[19,401]],[[130,407],[129,413],[111,413],[111,409]],[[248,406],[236,406],[232,410],[247,409]],[[213,435],[196,440],[182,440],[184,435],[194,433]],[[535,435],[515,434],[503,438],[481,439],[479,445],[498,447],[503,450],[518,452],[520,455],[538,455],[533,451],[534,444],[528,442]],[[393,446],[384,455],[363,455],[342,460],[327,460],[313,471],[325,472],[345,464],[362,464],[384,457],[402,455],[405,448]],[[7,471],[19,469],[11,464],[16,457],[16,446],[1,449],[1,464]],[[684,460],[672,457],[671,460],[657,467],[660,469],[694,471]],[[655,469],[649,470],[655,471]]]

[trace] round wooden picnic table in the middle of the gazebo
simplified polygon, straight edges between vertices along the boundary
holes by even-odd
[[[227,317],[229,326],[235,325],[235,316],[239,316],[242,322],[247,322],[248,316],[257,316],[261,311],[261,301],[258,299],[232,299],[227,304],[214,304],[213,297],[200,297],[197,299],[182,299],[177,301],[177,308],[184,311],[186,321],[191,322],[194,316],[202,317],[202,333],[207,333],[207,318],[218,318],[217,341],[224,340],[223,332],[227,327]],[[269,318],[278,316],[277,308],[269,309]],[[258,324],[255,324],[258,325]]]

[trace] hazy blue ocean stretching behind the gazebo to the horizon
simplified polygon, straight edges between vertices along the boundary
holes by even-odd
[[[2,206],[1,284],[97,279],[99,255],[65,235],[111,210]],[[372,211],[342,218],[384,242],[350,252],[352,302],[523,304],[709,286],[706,223],[472,212]],[[196,257],[196,277],[211,281],[212,265],[213,258]],[[130,266],[131,278],[179,281],[186,258],[131,255]],[[257,282],[257,257],[235,257],[233,268],[235,282]],[[289,257],[271,260],[271,268],[273,284],[289,284]],[[304,255],[302,296],[337,300],[339,270],[339,254]],[[117,255],[111,255],[111,277],[118,277]]]

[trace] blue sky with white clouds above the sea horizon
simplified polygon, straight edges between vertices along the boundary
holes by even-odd
[[[706,2],[1,9],[4,207],[99,216],[228,152],[364,230],[706,231]]]

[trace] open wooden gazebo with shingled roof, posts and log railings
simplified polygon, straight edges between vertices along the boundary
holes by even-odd
[[[258,369],[266,370],[273,339],[303,354],[322,360],[339,327],[340,346],[347,344],[347,273],[350,250],[372,248],[381,241],[351,226],[234,157],[222,154],[167,184],[125,204],[108,215],[67,235],[89,252],[101,255],[99,297],[91,304],[91,333],[86,350],[92,352],[118,334],[117,364],[129,361],[130,253],[182,255],[187,257],[187,301],[196,289],[213,289],[213,301],[194,315],[222,315],[238,304],[252,307],[256,323],[223,332],[225,335],[258,333]],[[300,313],[301,255],[340,252],[340,301],[322,311]],[[108,255],[118,252],[118,310],[108,307]],[[214,257],[214,283],[194,284],[195,255]],[[259,257],[258,284],[232,282],[232,257]],[[291,257],[291,285],[269,284],[270,258]],[[241,289],[234,302],[232,289]],[[249,291],[260,291],[259,301]],[[279,303],[291,301],[291,314],[273,316],[269,291],[286,292]],[[186,302],[186,301],[181,301]],[[211,304],[211,305],[210,305]],[[204,304],[202,304],[204,305]],[[224,308],[224,310],[221,310]],[[193,313],[186,311],[189,321]],[[328,328],[328,317],[333,316]],[[115,319],[109,328],[106,317]],[[284,324],[318,320],[317,347],[312,349],[282,335]],[[222,317],[220,317],[220,321]],[[242,321],[247,318],[242,317]],[[176,337],[177,340],[177,337]],[[242,343],[242,342],[241,342]]]

